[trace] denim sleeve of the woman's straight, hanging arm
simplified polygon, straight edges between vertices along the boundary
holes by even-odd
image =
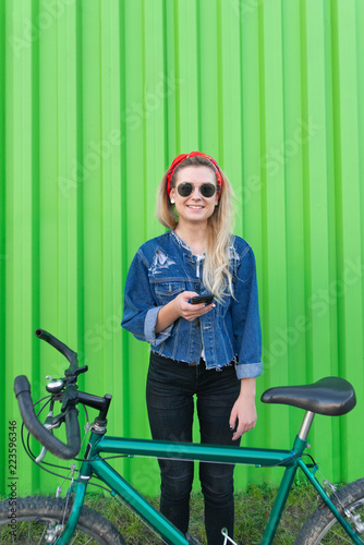
[[[238,378],[259,376],[262,363],[262,330],[258,289],[253,250],[248,246],[238,267],[232,302],[232,324],[238,351]]]

